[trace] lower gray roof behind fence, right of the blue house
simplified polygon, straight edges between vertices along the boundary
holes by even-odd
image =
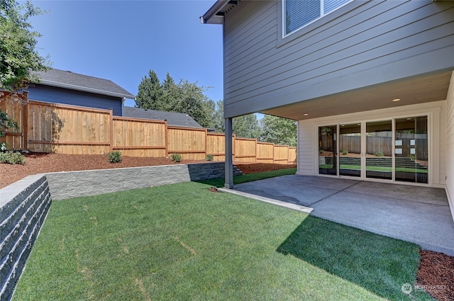
[[[178,127],[200,127],[191,116],[184,113],[166,112],[164,110],[148,110],[143,108],[123,107],[123,117],[167,120],[168,125]]]

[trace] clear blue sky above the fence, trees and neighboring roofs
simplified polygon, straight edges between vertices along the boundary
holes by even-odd
[[[32,1],[44,11],[31,19],[41,55],[52,67],[110,79],[137,93],[150,69],[211,87],[223,99],[222,25],[201,24],[215,0]],[[133,106],[127,101],[126,106]]]

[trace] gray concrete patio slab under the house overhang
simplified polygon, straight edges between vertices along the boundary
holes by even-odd
[[[454,256],[454,222],[441,188],[295,175],[238,184],[233,191]]]

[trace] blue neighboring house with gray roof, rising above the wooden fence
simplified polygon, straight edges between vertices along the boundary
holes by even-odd
[[[63,103],[89,108],[114,109],[114,115],[123,116],[126,98],[135,99],[121,86],[109,79],[50,69],[38,72],[40,83],[28,87],[28,99],[48,103]]]

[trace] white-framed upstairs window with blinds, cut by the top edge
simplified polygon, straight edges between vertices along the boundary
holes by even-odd
[[[352,0],[282,0],[284,36],[323,18],[350,1]]]

